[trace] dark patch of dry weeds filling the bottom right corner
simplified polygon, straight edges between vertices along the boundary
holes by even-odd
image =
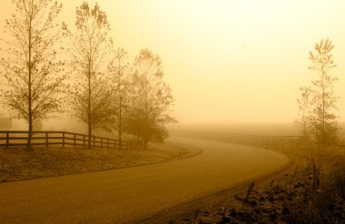
[[[314,159],[295,158],[293,168],[242,186],[242,190],[232,195],[234,200],[228,208],[211,209],[192,222],[343,223],[345,160],[343,155],[338,156],[332,154],[323,165]]]

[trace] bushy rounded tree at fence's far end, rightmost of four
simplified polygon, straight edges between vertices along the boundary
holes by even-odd
[[[134,60],[131,131],[143,141],[144,149],[149,141],[163,142],[168,137],[165,124],[175,122],[169,115],[172,104],[160,57],[143,49]]]

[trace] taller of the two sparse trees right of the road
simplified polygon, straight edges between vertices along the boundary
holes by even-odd
[[[329,39],[321,40],[315,45],[315,53],[310,52],[309,69],[319,74],[319,78],[312,83],[312,122],[316,140],[320,145],[334,143],[338,138],[339,127],[337,116],[334,111],[337,109],[333,85],[338,80],[330,72],[336,66],[330,54],[334,45]]]

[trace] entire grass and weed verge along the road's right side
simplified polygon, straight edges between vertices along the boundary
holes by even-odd
[[[213,139],[215,137],[212,137]],[[227,139],[289,155],[285,170],[186,203],[143,223],[345,223],[345,148],[311,142]]]

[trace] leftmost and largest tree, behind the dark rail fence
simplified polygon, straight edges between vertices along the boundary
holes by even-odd
[[[28,123],[31,148],[33,123],[62,111],[64,63],[57,62],[54,44],[62,37],[54,20],[62,5],[52,0],[15,0],[16,14],[6,20],[11,36],[5,43],[3,103],[15,118]]]

